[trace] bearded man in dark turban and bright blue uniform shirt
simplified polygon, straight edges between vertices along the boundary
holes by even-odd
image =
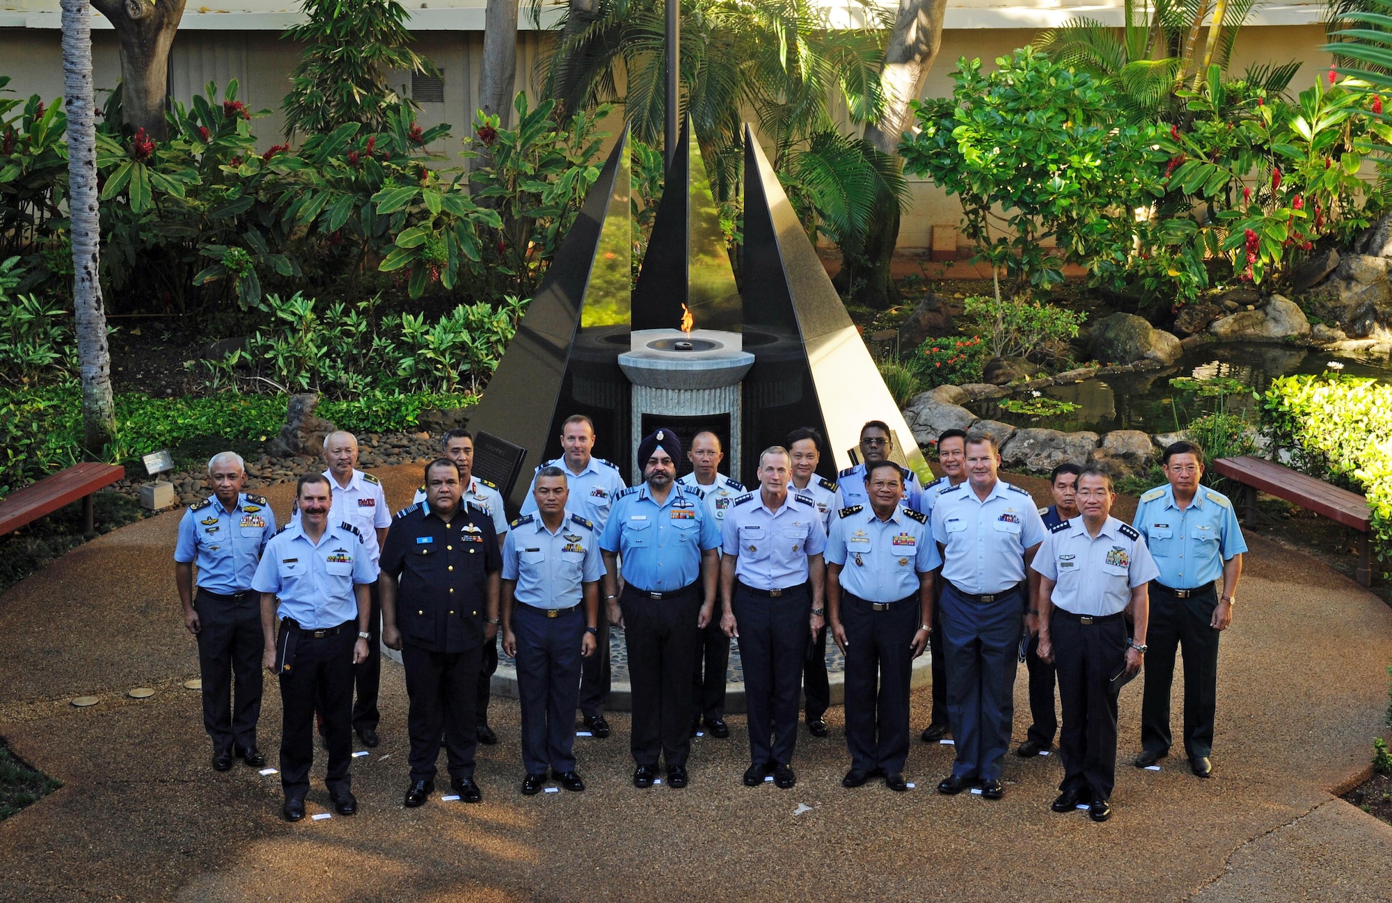
[[[667,785],[686,786],[692,661],[715,608],[720,532],[702,491],[677,486],[681,455],[681,440],[667,429],[639,442],[643,483],[619,493],[600,537],[604,601],[628,647],[636,788],[653,786],[658,756],[667,762]]]

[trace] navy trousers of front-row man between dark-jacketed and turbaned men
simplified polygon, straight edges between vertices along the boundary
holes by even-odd
[[[529,775],[544,775],[547,767],[560,774],[575,771],[583,609],[576,605],[547,618],[546,612],[519,602],[512,607],[512,634],[522,700],[522,767]]]

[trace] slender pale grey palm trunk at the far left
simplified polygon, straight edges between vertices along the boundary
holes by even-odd
[[[63,0],[63,95],[68,117],[68,209],[72,216],[72,309],[82,367],[82,444],[100,454],[116,435],[111,353],[106,344],[97,250],[96,117],[92,96],[92,13]]]

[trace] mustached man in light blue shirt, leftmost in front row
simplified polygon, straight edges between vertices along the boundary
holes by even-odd
[[[260,593],[262,664],[280,678],[285,821],[305,817],[309,768],[315,761],[316,705],[324,717],[329,796],[340,815],[358,811],[348,774],[354,665],[367,658],[372,636],[367,587],[377,580],[377,566],[358,527],[329,519],[331,498],[329,477],[319,473],[299,477],[295,487],[299,520],[271,537],[252,579],[252,589]]]

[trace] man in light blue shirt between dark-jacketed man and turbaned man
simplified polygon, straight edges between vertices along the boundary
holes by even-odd
[[[547,769],[583,790],[575,769],[575,701],[580,660],[594,654],[604,576],[594,523],[565,509],[565,472],[541,468],[532,481],[537,513],[512,522],[503,543],[503,648],[516,661],[522,701],[522,793],[535,796]]]

